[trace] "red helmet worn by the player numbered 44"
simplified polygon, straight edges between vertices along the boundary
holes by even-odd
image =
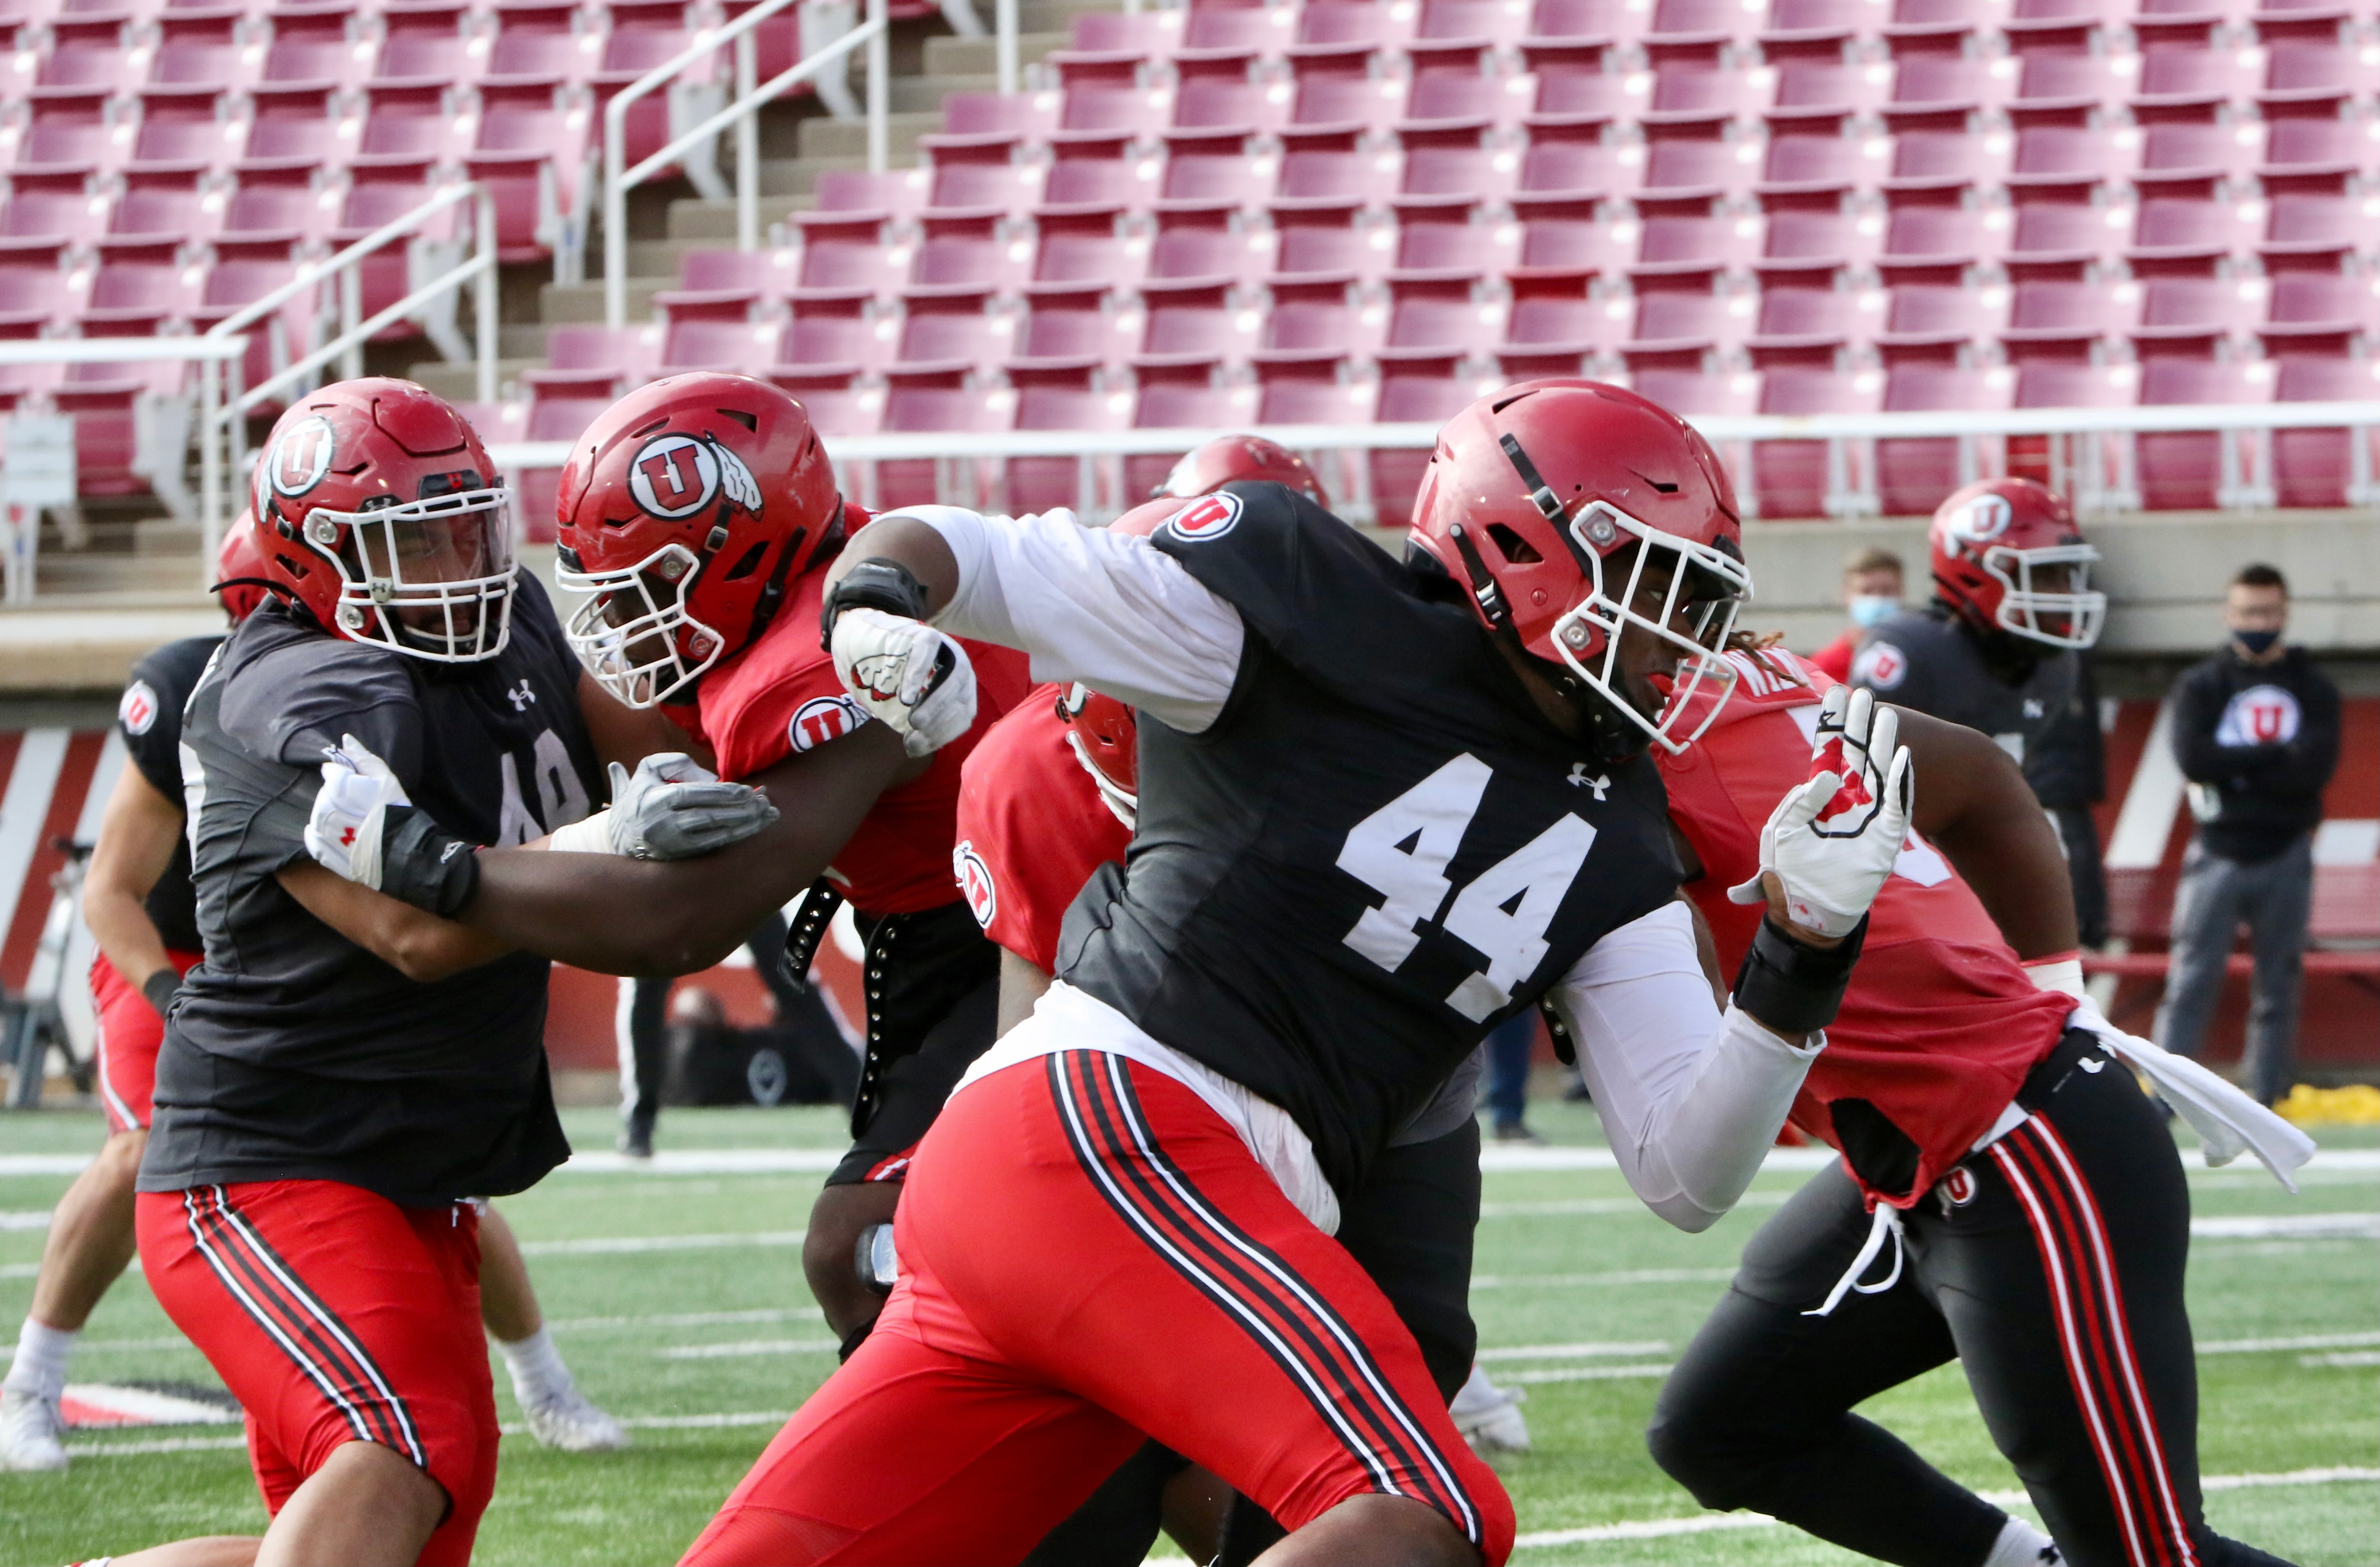
[[[1692,733],[1671,733],[1704,681],[1733,681],[1721,650],[1752,572],[1718,452],[1659,402],[1599,381],[1523,381],[1480,398],[1438,431],[1411,543],[1468,588],[1490,629],[1568,667],[1664,750],[1685,750],[1718,714],[1704,703]],[[1606,581],[1606,562],[1626,579]],[[1656,610],[1637,607],[1640,588],[1659,591]],[[1621,691],[1626,626],[1678,648],[1659,719]]]

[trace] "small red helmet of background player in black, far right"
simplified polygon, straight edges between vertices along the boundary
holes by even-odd
[[[2090,591],[2099,550],[2082,543],[2056,491],[2030,479],[1971,483],[1935,507],[1925,543],[1942,603],[1978,629],[2052,648],[2099,641],[2106,593]]]

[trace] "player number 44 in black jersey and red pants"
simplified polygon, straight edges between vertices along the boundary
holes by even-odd
[[[1883,722],[1873,776],[1821,769],[1771,822],[1721,1015],[1642,755],[1690,741],[1652,681],[1714,676],[1749,583],[1709,443],[1530,383],[1447,424],[1418,514],[1421,564],[1273,483],[1150,538],[919,507],[845,550],[828,638],[888,729],[964,731],[952,633],[1026,648],[1135,707],[1138,829],[919,1145],[876,1334],[690,1562],[1019,1560],[1142,1434],[1292,1529],[1266,1560],[1504,1560],[1509,1500],[1330,1238],[1345,1195],[1552,995],[1630,1184],[1716,1222],[1911,781]]]

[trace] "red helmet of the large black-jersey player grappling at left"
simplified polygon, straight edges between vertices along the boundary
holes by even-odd
[[[338,636],[440,664],[512,641],[512,498],[438,393],[364,376],[298,398],[252,510],[264,579]]]

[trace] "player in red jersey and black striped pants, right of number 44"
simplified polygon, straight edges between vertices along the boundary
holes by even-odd
[[[1759,824],[1811,736],[1856,731],[1847,707],[1871,700],[1783,650],[1733,657],[1716,724],[1661,760],[1721,964],[1754,934],[1726,888],[1759,864]],[[2109,1050],[2152,1074],[2171,1057],[2080,1000],[2066,867],[2013,762],[1914,712],[1899,738],[1925,774],[1918,831],[1792,1112],[1842,1162],[1745,1248],[1661,1391],[1654,1457],[1706,1507],[1906,1567],[2271,1562],[2199,1507],[2190,1193]],[[2237,1091],[2202,1105],[2282,1179],[2311,1150]],[[1852,1412],[1949,1360],[2049,1534]]]

